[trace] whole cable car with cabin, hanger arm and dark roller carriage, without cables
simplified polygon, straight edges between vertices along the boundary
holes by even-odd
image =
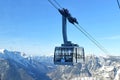
[[[84,48],[79,47],[78,44],[71,43],[67,40],[67,19],[70,23],[78,24],[76,18],[73,18],[67,9],[58,9],[62,15],[62,34],[63,41],[59,47],[54,50],[54,64],[56,65],[74,65],[85,61]]]

